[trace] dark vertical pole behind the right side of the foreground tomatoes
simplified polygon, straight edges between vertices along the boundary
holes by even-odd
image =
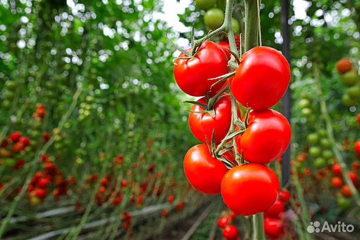
[[[281,0],[281,28],[282,28],[282,54],[290,62],[290,27],[288,25],[289,18],[289,0]],[[282,99],[282,112],[289,120],[291,119],[291,90],[288,88]],[[291,122],[290,122],[291,123]],[[290,181],[290,157],[291,144],[282,156],[282,185],[289,185]]]

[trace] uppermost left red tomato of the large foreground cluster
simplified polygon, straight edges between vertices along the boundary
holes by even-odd
[[[191,49],[187,49],[190,51]],[[181,53],[179,57],[187,57]],[[174,76],[177,85],[191,96],[204,96],[211,85],[217,81],[210,78],[224,75],[228,72],[226,55],[217,43],[205,41],[196,56],[190,59],[177,59],[174,66]],[[223,84],[216,84],[211,90],[216,91]]]

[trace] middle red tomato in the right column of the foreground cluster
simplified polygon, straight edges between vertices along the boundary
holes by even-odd
[[[286,117],[272,109],[253,110],[248,122],[245,132],[235,138],[237,149],[243,150],[245,160],[267,164],[285,152],[291,139]]]

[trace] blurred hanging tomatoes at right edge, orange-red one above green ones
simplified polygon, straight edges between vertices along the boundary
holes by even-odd
[[[348,58],[340,59],[336,64],[336,69],[342,74],[342,82],[348,86],[346,93],[342,95],[342,102],[346,106],[352,106],[360,97],[360,78],[357,70],[352,68],[352,63]]]

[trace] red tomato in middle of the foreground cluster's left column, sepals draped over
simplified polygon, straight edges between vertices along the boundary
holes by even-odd
[[[207,104],[206,98],[202,97],[198,102]],[[204,111],[205,109],[198,105],[193,105],[191,111]],[[227,134],[231,124],[231,97],[222,96],[215,105],[215,117],[209,113],[189,114],[189,126],[192,134],[201,142],[206,143],[206,137],[211,142],[212,131],[214,130],[215,142],[219,143]]]

